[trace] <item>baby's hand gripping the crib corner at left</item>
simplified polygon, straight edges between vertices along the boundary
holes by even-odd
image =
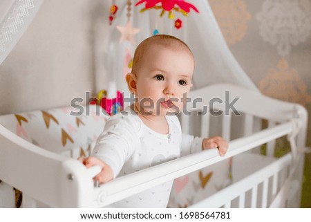
[[[113,171],[109,165],[104,163],[104,161],[95,158],[94,156],[89,156],[88,158],[78,158],[78,160],[83,163],[87,168],[93,166],[100,166],[101,172],[95,176],[95,180],[97,180],[100,184],[107,183],[113,179]]]

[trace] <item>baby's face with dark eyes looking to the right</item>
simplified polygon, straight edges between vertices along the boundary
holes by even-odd
[[[151,46],[136,74],[135,95],[142,110],[148,115],[182,111],[193,73],[194,58],[189,51]]]

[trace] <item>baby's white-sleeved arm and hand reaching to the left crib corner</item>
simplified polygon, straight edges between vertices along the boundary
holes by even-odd
[[[102,171],[95,177],[100,183],[111,181],[133,154],[140,141],[139,134],[140,121],[133,115],[113,115],[107,120],[104,131],[97,138],[92,155],[79,160],[86,167],[100,166]]]

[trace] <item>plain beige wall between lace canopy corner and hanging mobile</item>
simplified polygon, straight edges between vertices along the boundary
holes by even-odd
[[[0,66],[0,114],[68,106],[106,87],[109,1],[44,1]]]

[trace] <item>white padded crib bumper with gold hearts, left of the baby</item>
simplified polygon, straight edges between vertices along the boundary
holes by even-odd
[[[48,151],[60,154],[78,149],[86,155],[83,153],[91,150],[109,115],[98,106],[82,108],[81,115],[70,115],[79,111],[73,107],[0,115],[0,124]]]

